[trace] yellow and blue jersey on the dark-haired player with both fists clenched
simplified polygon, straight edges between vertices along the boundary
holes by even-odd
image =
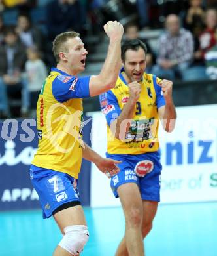
[[[152,74],[143,74],[141,94],[135,105],[135,114],[131,127],[122,140],[114,137],[114,128],[110,124],[114,122],[125,103],[129,99],[129,87],[123,76],[124,69],[120,71],[114,89],[100,95],[100,105],[107,119],[107,152],[108,154],[146,154],[158,152],[158,108],[165,105],[161,87],[158,85],[161,79]],[[120,130],[125,132],[125,124]]]

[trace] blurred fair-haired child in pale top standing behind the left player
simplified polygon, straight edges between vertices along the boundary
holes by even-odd
[[[33,109],[35,111],[38,96],[48,72],[36,47],[29,47],[27,49],[27,58],[25,72],[27,75],[27,89],[30,94],[30,110]]]

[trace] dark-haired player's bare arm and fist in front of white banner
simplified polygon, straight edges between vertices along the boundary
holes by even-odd
[[[166,104],[158,109],[158,114],[161,119],[163,129],[171,133],[175,128],[176,123],[176,109],[172,98],[173,83],[171,81],[162,80],[159,85],[162,87]]]

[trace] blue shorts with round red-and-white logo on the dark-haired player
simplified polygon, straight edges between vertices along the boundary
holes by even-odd
[[[139,186],[142,200],[160,201],[160,175],[162,165],[159,152],[139,155],[106,154],[107,158],[120,160],[120,172],[112,177],[110,186],[118,198],[117,189],[125,183],[136,183]]]

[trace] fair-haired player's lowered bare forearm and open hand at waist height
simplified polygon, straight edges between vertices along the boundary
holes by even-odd
[[[98,169],[107,174],[109,173],[110,176],[116,175],[120,169],[116,166],[117,163],[121,163],[121,161],[116,161],[110,158],[102,158],[90,148],[86,143],[84,143],[84,148],[82,151],[83,158],[88,161],[92,161],[98,167]]]

